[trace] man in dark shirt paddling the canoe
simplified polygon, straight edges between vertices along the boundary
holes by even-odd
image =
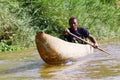
[[[82,39],[85,39],[85,40],[87,40],[87,38],[88,38],[93,43],[94,48],[98,47],[96,39],[88,32],[88,30],[83,27],[78,27],[78,22],[75,17],[71,17],[69,19],[69,25],[70,25],[70,28],[68,28],[68,30],[71,33],[73,33],[76,36],[81,37]],[[67,30],[64,31],[64,36],[65,36],[65,38],[67,38],[67,40],[69,42],[86,44],[85,42],[70,35]]]

